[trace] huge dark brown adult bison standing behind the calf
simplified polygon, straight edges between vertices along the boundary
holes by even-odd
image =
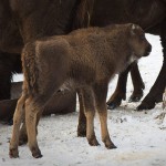
[[[162,71],[149,94],[138,106],[154,107],[155,103],[162,100],[166,85],[165,4],[165,0],[0,0],[0,100],[10,97],[11,75],[13,72],[20,72],[20,52],[25,42],[44,35],[69,33],[86,25],[104,27],[111,23],[134,22],[146,32],[159,34],[162,38]],[[116,91],[108,101],[113,107],[125,98],[129,70],[134,83],[132,100],[143,95],[144,84],[135,63],[120,75]]]

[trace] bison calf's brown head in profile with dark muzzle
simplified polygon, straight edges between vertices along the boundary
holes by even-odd
[[[134,59],[147,56],[152,51],[152,45],[145,38],[145,33],[139,25],[129,24],[129,46]]]

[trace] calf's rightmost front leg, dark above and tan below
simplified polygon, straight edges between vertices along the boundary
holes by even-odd
[[[111,141],[107,129],[106,94],[107,94],[107,84],[101,83],[94,85],[94,97],[101,121],[102,141],[105,144],[105,147],[111,149],[116,148],[116,146]]]

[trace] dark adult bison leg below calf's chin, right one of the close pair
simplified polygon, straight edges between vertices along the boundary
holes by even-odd
[[[145,89],[145,85],[139,73],[137,62],[132,64],[131,75],[134,91],[129,97],[129,102],[138,102],[143,97],[143,90]]]

